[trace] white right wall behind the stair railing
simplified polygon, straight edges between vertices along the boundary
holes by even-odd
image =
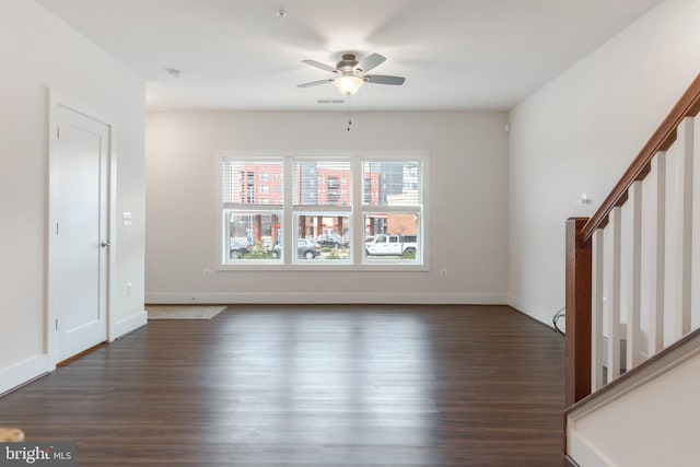
[[[564,221],[593,214],[700,72],[699,24],[700,1],[669,0],[511,112],[511,305],[545,323],[564,305]]]

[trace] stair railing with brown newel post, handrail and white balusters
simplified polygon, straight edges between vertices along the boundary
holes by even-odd
[[[567,220],[567,407],[700,320],[699,112],[700,74],[595,214]]]

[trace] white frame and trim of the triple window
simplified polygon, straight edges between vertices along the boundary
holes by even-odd
[[[231,208],[224,207],[223,202],[223,163],[229,160],[244,160],[248,162],[255,161],[277,161],[282,162],[282,255],[275,260],[236,260],[235,262],[226,261],[224,248],[225,225],[222,221],[225,219],[225,212]],[[221,260],[217,266],[218,271],[428,271],[430,270],[430,153],[425,150],[409,151],[217,151],[217,209],[220,220],[217,226],[217,257]],[[295,199],[293,174],[294,163],[296,161],[313,162],[330,162],[348,160],[350,162],[350,177],[347,185],[340,183],[340,186],[347,186],[351,192],[350,206],[296,206],[293,203]],[[365,205],[364,180],[363,180],[363,162],[409,162],[417,161],[421,164],[422,184],[422,203],[417,206],[372,206]],[[270,177],[273,178],[273,177]],[[358,182],[359,180],[359,182]],[[272,191],[272,190],[270,190]],[[240,205],[242,212],[252,211],[275,211],[280,205]],[[329,215],[348,215],[350,238],[350,258],[349,260],[298,260],[296,258],[296,230],[298,215],[300,212],[329,213]],[[376,258],[368,260],[364,255],[365,243],[365,215],[369,213],[399,213],[409,214],[418,213],[419,220],[417,224],[418,249],[420,252],[416,259],[392,259]],[[358,247],[357,245],[360,245]]]

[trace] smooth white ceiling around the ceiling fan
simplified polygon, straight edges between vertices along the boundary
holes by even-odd
[[[662,0],[36,0],[143,77],[151,109],[308,110],[302,63],[378,52],[358,110],[510,109]],[[280,17],[276,12],[284,9]],[[182,70],[175,79],[167,68]]]

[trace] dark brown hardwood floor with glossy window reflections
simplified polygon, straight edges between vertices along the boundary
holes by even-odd
[[[231,306],[8,394],[0,425],[79,466],[562,466],[563,348],[506,306]]]

